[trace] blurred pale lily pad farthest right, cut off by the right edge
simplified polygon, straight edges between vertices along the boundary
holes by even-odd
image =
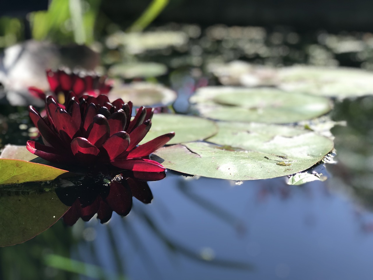
[[[279,87],[318,96],[373,94],[373,73],[353,68],[294,66],[279,69]]]

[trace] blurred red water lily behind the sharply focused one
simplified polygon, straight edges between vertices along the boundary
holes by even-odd
[[[50,87],[48,94],[52,94],[56,100],[58,100],[57,97],[60,93],[68,97],[70,91],[73,91],[78,97],[83,94],[97,97],[100,94],[107,94],[112,89],[112,85],[106,82],[106,76],[82,72],[68,73],[63,69],[57,71],[47,69],[46,74]],[[29,92],[35,97],[46,98],[46,93],[40,88],[29,87]],[[58,101],[61,104],[64,103],[63,100]]]

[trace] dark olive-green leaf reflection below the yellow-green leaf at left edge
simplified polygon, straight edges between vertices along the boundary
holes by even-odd
[[[25,242],[56,223],[68,211],[53,190],[0,190],[0,246]]]

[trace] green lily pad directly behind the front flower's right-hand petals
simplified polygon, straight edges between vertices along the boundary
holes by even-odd
[[[175,137],[167,144],[203,140],[217,133],[215,122],[197,116],[154,114],[151,122],[150,131],[140,144],[172,131]]]

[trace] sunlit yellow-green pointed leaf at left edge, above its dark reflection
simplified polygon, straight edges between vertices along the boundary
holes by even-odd
[[[0,185],[49,181],[66,172],[68,171],[19,159],[0,159]]]

